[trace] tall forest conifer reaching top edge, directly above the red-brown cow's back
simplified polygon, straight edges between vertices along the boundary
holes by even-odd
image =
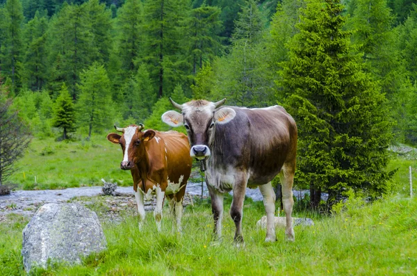
[[[189,14],[187,0],[145,1],[145,62],[157,87],[158,98],[170,95],[177,83],[189,81],[183,26]]]

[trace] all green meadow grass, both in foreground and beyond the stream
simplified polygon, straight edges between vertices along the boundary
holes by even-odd
[[[120,147],[105,136],[70,143],[35,138],[12,181],[24,189],[99,185],[101,178],[130,185],[121,159]],[[264,216],[263,203],[247,199],[245,247],[235,247],[230,197],[224,202],[223,240],[213,243],[210,202],[198,200],[184,209],[182,235],[172,233],[167,206],[161,233],[152,213],[142,231],[137,218],[126,213],[118,224],[103,222],[106,251],[78,266],[55,263],[31,275],[417,275],[417,198],[408,195],[409,165],[416,168],[415,159],[391,161],[389,170],[397,170],[393,193],[382,200],[370,204],[350,197],[327,216],[295,211],[294,217],[312,218],[316,225],[295,227],[294,243],[284,240],[284,229],[277,229],[276,243],[265,243],[265,230],[255,226]],[[99,206],[90,208],[99,213]],[[25,275],[20,251],[27,222],[13,214],[0,222],[0,275]]]

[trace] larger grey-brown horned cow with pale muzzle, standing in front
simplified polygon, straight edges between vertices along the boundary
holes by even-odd
[[[286,237],[294,240],[293,178],[297,151],[297,126],[281,106],[268,108],[222,107],[220,102],[195,100],[177,104],[162,120],[172,127],[184,125],[190,156],[206,164],[206,183],[211,196],[214,234],[222,231],[223,195],[233,190],[230,215],[236,225],[234,241],[243,243],[242,218],[246,187],[259,186],[267,214],[265,241],[275,241],[275,193],[271,180],[279,174],[286,215]]]

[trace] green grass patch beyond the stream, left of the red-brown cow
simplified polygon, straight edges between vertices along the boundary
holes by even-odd
[[[120,161],[122,149],[105,135],[68,143],[33,138],[10,182],[24,190],[95,186],[102,184],[101,178],[132,185],[131,174],[120,170]]]

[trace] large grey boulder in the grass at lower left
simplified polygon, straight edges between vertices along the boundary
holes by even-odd
[[[49,260],[81,263],[82,257],[106,245],[94,211],[74,203],[44,204],[23,230],[24,268],[46,268]]]

